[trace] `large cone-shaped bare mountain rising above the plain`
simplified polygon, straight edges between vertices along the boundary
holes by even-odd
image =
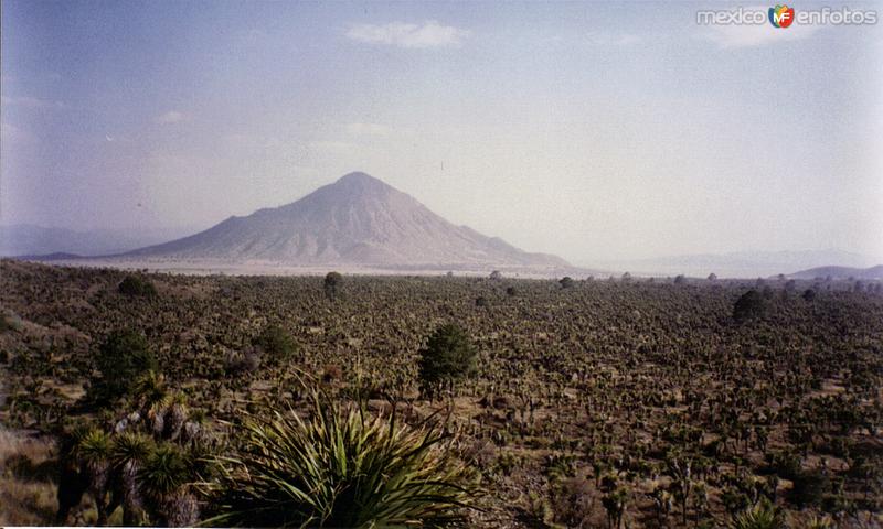
[[[529,253],[455,226],[359,172],[291,204],[230,217],[205,231],[119,257],[404,269],[568,267],[558,257]]]

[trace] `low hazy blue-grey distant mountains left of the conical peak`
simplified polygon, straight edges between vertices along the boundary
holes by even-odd
[[[180,230],[97,229],[76,231],[32,224],[12,224],[0,226],[0,256],[46,256],[52,253],[105,256],[156,245],[169,240],[169,237],[180,235]]]

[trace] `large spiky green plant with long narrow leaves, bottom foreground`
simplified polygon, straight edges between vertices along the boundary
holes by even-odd
[[[313,395],[312,417],[248,419],[238,455],[221,462],[210,525],[442,527],[475,493],[437,428],[370,418]]]

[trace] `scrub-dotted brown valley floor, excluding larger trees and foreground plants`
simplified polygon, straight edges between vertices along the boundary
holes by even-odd
[[[52,523],[58,432],[131,412],[134,397],[89,400],[120,330],[222,451],[244,413],[308,409],[305,378],[370,413],[436,413],[482,490],[472,527],[725,527],[764,498],[788,527],[883,523],[883,296],[866,285],[434,276],[344,274],[332,293],[320,277],[0,261],[0,523]],[[127,277],[156,293],[121,293]],[[763,310],[736,321],[751,289]],[[428,401],[419,352],[446,323],[477,369]],[[268,328],[295,345],[286,361],[262,349]],[[71,522],[95,516],[87,499]]]

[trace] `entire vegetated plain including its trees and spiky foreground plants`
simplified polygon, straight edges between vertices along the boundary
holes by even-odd
[[[880,527],[883,295],[0,263],[0,523]]]

